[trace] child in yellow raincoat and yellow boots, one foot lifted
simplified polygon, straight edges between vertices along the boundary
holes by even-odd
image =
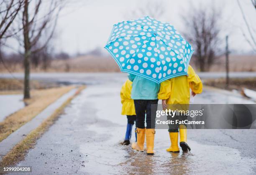
[[[199,76],[195,74],[194,69],[190,65],[188,66],[187,74],[187,76],[174,77],[161,83],[158,98],[162,100],[162,105],[164,109],[167,108],[167,104],[184,104],[183,106],[180,106],[187,108],[189,106],[190,88],[192,90],[192,96],[202,93],[202,82]],[[187,145],[187,126],[183,124],[179,126],[175,124],[170,124],[168,131],[171,139],[171,146],[167,148],[166,151],[179,152],[178,132],[180,134],[179,145],[180,147],[182,147],[182,151],[190,151],[190,147]]]

